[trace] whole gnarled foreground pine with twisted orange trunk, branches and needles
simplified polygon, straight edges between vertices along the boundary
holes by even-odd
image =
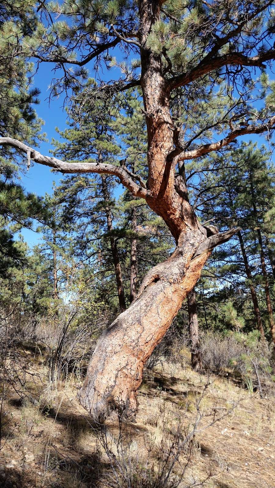
[[[115,103],[125,90],[136,88],[147,126],[148,179],[145,183],[127,164],[63,162],[43,156],[8,133],[0,143],[63,173],[115,175],[162,217],[175,239],[173,254],[147,273],[136,299],[98,341],[79,393],[97,421],[121,405],[125,415],[135,414],[146,360],[199,279],[212,249],[238,230],[213,234],[200,224],[188,200],[184,162],[222,151],[244,134],[270,134],[274,129],[273,104],[264,102],[264,92],[270,90],[267,77],[262,76],[261,108],[251,105],[258,88],[252,74],[275,58],[271,5],[263,0],[69,0],[48,6],[42,2],[38,10],[46,18],[52,10],[62,20],[48,29],[39,26],[32,39],[25,36],[20,44],[40,62],[54,62],[64,70],[64,78],[53,81],[53,92],[72,88],[75,106],[98,97],[111,97]],[[111,54],[118,45],[129,55],[138,53],[140,61],[116,62]],[[97,74],[101,63],[111,61],[123,76],[83,87],[84,66],[93,60]],[[75,71],[69,69],[73,65]]]

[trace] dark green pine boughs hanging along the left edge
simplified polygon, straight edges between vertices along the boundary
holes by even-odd
[[[30,88],[32,63],[18,56],[20,32],[29,35],[36,25],[34,2],[1,2],[0,6],[0,136],[36,143],[42,121],[33,105],[39,90]],[[17,54],[16,54],[17,53]],[[20,160],[7,146],[0,150],[0,276],[7,276],[12,265],[26,264],[24,250],[14,242],[13,234],[22,227],[31,228],[34,218],[43,219],[42,200],[25,192],[20,184]],[[28,163],[28,161],[27,161]],[[22,170],[22,167],[21,167]]]

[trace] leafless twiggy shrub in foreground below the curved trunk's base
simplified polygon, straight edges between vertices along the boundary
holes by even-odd
[[[100,426],[98,441],[110,462],[105,474],[110,488],[192,488],[204,486],[210,474],[203,481],[190,479],[187,467],[199,453],[195,434],[211,427],[226,415],[235,405],[218,417],[216,412],[209,416],[201,407],[206,395],[204,390],[194,400],[195,414],[192,423],[186,424],[186,412],[167,410],[165,403],[160,403],[157,428],[144,434],[143,446],[131,440],[129,425],[124,421],[124,414],[119,412],[117,436],[113,436],[110,427]],[[208,423],[202,420],[209,418]],[[131,429],[130,429],[131,433]],[[196,461],[196,459],[195,459]]]

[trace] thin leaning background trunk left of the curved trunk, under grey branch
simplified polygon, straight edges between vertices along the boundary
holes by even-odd
[[[101,182],[102,182],[103,197],[104,197],[105,202],[108,202],[110,200],[110,195],[109,195],[108,185],[107,185],[106,180],[107,180],[107,176],[102,175],[101,176]],[[106,213],[108,232],[111,233],[113,230],[113,216],[112,216],[112,212],[111,212],[109,205],[106,205],[105,213]],[[110,244],[111,244],[113,263],[114,263],[114,267],[115,267],[115,279],[116,279],[118,302],[119,302],[120,310],[121,310],[121,312],[123,312],[124,310],[126,310],[126,303],[125,303],[124,288],[123,288],[123,282],[122,282],[122,273],[121,273],[121,267],[120,267],[115,237],[112,235],[110,235]]]

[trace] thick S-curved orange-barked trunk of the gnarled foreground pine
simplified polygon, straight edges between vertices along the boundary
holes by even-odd
[[[213,247],[236,232],[207,239],[206,228],[188,201],[183,171],[176,176],[183,148],[169,104],[171,87],[163,76],[161,54],[146,48],[152,25],[160,20],[160,5],[151,0],[138,3],[139,41],[143,46],[140,87],[148,140],[148,181],[146,191],[142,191],[147,204],[167,224],[177,248],[147,273],[137,298],[98,341],[79,391],[81,404],[97,422],[119,408],[128,417],[136,413],[145,362],[199,279]]]

